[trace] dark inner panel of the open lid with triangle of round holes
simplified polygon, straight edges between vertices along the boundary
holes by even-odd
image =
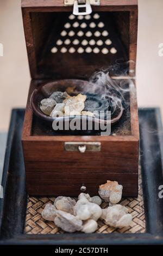
[[[128,12],[123,14],[128,29]],[[32,19],[36,21],[34,15]],[[116,24],[117,15],[116,12],[92,13],[87,16],[51,13],[51,27],[46,32],[45,43],[42,43],[37,53],[39,74],[43,78],[87,78],[117,59],[127,61],[129,52]],[[38,16],[41,20],[42,13]],[[38,33],[36,29],[34,38],[35,33]]]

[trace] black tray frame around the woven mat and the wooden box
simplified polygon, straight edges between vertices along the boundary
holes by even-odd
[[[140,163],[145,204],[145,234],[23,234],[26,177],[21,146],[24,109],[12,110],[0,199],[0,245],[163,245],[163,133],[159,109],[140,109]],[[162,193],[163,194],[163,193]]]

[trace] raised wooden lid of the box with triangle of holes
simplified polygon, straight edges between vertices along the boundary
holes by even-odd
[[[72,10],[64,0],[22,0],[33,79],[83,79],[117,59],[136,61],[137,0],[101,0],[87,16]]]

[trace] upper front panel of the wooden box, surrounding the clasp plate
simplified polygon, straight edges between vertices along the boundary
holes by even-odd
[[[136,173],[139,144],[106,141],[101,142],[101,152],[80,153],[65,151],[60,141],[23,141],[23,153],[27,172]]]

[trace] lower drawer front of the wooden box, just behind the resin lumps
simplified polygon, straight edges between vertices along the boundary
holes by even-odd
[[[123,186],[123,197],[136,197],[138,193],[138,174],[120,173],[81,173],[70,172],[43,173],[26,172],[27,191],[29,195],[39,196],[73,196],[77,197],[80,187],[86,186],[86,193],[98,195],[98,187],[107,180],[118,181]]]

